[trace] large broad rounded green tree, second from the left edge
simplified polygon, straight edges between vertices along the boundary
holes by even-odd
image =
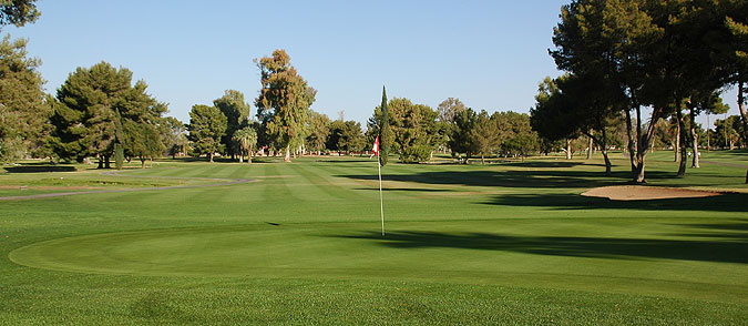
[[[125,68],[103,61],[78,68],[58,90],[60,104],[51,118],[53,151],[79,162],[98,156],[99,167],[110,167],[115,147],[141,160],[160,155],[157,125],[167,108],[146,89],[144,81],[132,85],[132,72]]]

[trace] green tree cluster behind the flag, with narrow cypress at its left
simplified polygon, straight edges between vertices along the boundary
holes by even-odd
[[[527,114],[477,112],[453,98],[433,110],[408,99],[387,101],[385,93],[368,121],[367,139],[373,142],[376,136],[380,136],[383,157],[391,150],[406,163],[429,161],[439,150],[449,150],[461,162],[480,155],[484,163],[488,155],[526,156],[540,149]]]

